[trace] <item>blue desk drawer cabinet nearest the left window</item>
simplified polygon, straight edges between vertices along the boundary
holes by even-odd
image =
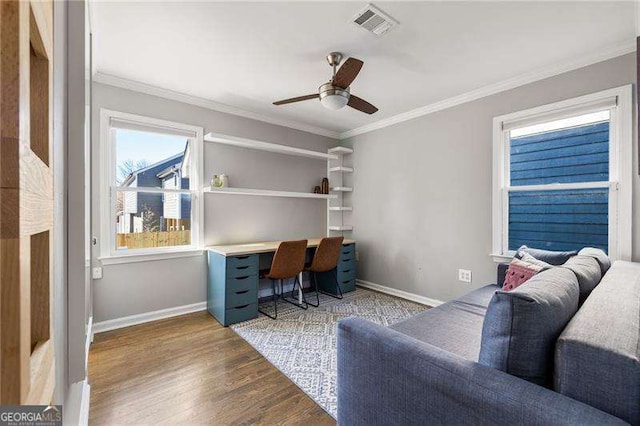
[[[258,260],[208,252],[207,310],[222,325],[258,317]]]

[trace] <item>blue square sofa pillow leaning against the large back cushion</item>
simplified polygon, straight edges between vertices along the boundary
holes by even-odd
[[[551,385],[555,342],[578,309],[576,276],[543,271],[515,290],[496,291],[482,328],[478,362],[539,385]]]

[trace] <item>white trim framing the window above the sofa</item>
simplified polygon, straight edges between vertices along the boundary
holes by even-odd
[[[589,112],[608,99],[615,99],[610,116],[609,182],[600,187],[609,188],[609,257],[612,260],[631,260],[632,255],[632,182],[633,182],[633,86],[631,84],[604,90],[566,101],[555,102],[524,111],[506,114],[493,119],[493,216],[492,253],[494,261],[503,262],[513,257],[507,250],[508,191],[505,183],[509,177],[507,149],[509,132],[505,124],[516,122],[548,121],[550,117]],[[507,124],[508,125],[508,124]],[[553,189],[576,189],[585,184],[557,184]],[[588,184],[593,187],[594,183]],[[544,186],[549,189],[549,185]],[[520,189],[520,188],[519,188]],[[524,189],[524,188],[523,188]],[[535,189],[535,186],[526,187]],[[513,188],[512,188],[513,190]]]

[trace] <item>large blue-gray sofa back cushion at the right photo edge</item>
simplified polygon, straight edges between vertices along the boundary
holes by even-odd
[[[640,264],[615,262],[558,338],[557,392],[640,425]]]

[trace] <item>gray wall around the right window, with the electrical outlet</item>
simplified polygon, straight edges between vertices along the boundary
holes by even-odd
[[[438,300],[495,282],[492,119],[635,83],[635,73],[629,54],[344,141],[355,149],[358,278]],[[637,149],[634,143],[633,246],[640,260]],[[457,280],[459,268],[473,271],[471,285]]]

